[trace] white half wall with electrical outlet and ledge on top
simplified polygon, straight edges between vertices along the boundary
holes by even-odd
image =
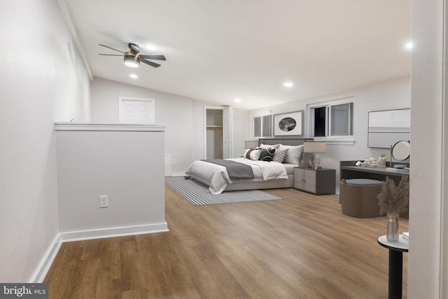
[[[62,239],[167,230],[164,126],[69,123],[56,130]],[[100,208],[101,195],[109,207]]]

